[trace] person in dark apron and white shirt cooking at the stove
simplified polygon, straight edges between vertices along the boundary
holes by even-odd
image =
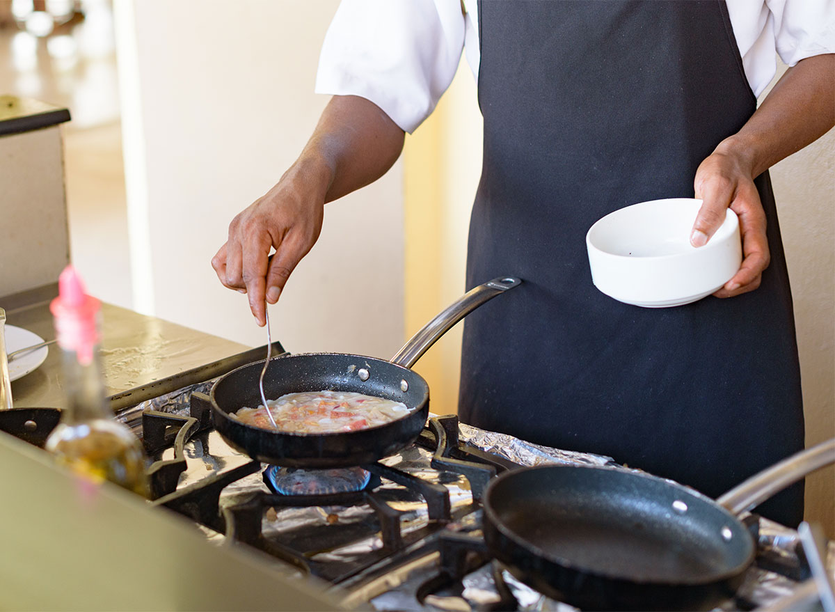
[[[833,32],[829,0],[343,0],[316,86],[333,97],[212,265],[263,325],[324,204],[392,166],[464,48],[484,120],[467,287],[500,273],[524,283],[466,320],[461,419],[716,497],[803,446],[767,169],[835,125]],[[775,49],[791,67],[757,109]],[[741,268],[716,298],[642,309],[595,289],[593,222],[693,195],[695,247],[727,207],[741,222]],[[794,526],[802,508],[801,484],[759,512]]]

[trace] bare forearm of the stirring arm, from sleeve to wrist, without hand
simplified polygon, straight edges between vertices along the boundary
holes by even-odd
[[[404,133],[377,105],[357,96],[334,96],[291,167],[319,186],[324,201],[376,181],[400,156]]]

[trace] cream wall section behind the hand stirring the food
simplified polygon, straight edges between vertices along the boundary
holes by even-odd
[[[337,0],[117,0],[124,150],[139,308],[265,344],[210,258],[326,104],[313,94]],[[326,207],[317,246],[271,307],[293,352],[390,357],[403,336],[402,171]]]

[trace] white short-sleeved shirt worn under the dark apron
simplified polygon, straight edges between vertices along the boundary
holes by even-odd
[[[774,78],[775,51],[788,66],[835,52],[835,0],[727,0],[727,8],[755,95]],[[316,93],[362,96],[411,133],[452,82],[462,48],[478,75],[476,0],[342,0]]]

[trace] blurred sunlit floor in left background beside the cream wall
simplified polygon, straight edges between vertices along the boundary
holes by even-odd
[[[0,0],[3,3],[3,0]],[[36,38],[0,27],[0,94],[66,106],[63,127],[70,252],[89,293],[131,304],[119,94],[109,3]],[[2,7],[0,7],[2,8]]]

